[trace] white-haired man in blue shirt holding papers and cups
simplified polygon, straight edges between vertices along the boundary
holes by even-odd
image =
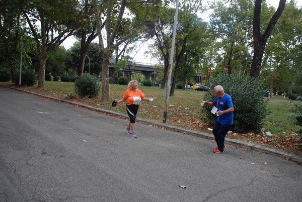
[[[217,148],[214,149],[214,152],[223,153],[225,136],[233,125],[234,106],[232,97],[224,92],[221,85],[216,85],[214,87],[214,95],[216,98],[212,103],[204,100],[200,100],[199,103],[201,105],[213,107],[212,113],[216,112],[215,114],[218,116],[213,127],[213,134],[217,143]]]

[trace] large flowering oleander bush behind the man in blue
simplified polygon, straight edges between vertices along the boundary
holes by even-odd
[[[263,128],[265,117],[268,115],[267,99],[263,97],[264,84],[260,79],[251,78],[244,74],[229,75],[226,71],[210,78],[208,86],[211,90],[205,94],[205,100],[213,101],[213,89],[221,85],[224,92],[230,94],[234,105],[233,132],[258,132]],[[204,107],[202,112],[210,124],[216,122],[217,116],[210,112],[211,108]]]

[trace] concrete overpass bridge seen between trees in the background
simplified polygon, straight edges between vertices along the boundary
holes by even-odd
[[[111,58],[111,64],[109,65],[109,71],[114,72],[116,66],[116,62],[114,58]],[[154,64],[147,64],[142,62],[132,62],[130,65],[130,74],[133,73],[141,73],[143,74],[146,79],[152,78],[153,82],[155,82],[156,73],[159,71],[163,71],[162,69],[157,69],[156,65]],[[124,68],[119,68],[119,72],[121,72],[123,75],[128,75],[129,68],[126,65]]]

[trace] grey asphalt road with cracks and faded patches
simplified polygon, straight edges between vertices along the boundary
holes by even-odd
[[[295,162],[127,124],[0,87],[0,201],[302,201]]]

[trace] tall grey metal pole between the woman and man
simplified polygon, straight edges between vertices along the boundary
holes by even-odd
[[[179,0],[177,0],[176,8],[175,8],[174,27],[173,27],[173,36],[172,36],[172,47],[171,47],[171,53],[170,53],[170,69],[169,69],[168,81],[167,81],[167,90],[166,90],[166,100],[165,100],[165,111],[164,111],[163,123],[166,123],[167,114],[168,114],[170,82],[171,82],[172,67],[173,67],[174,45],[175,45],[175,35],[176,35],[177,16],[178,16],[178,5],[179,5]]]

